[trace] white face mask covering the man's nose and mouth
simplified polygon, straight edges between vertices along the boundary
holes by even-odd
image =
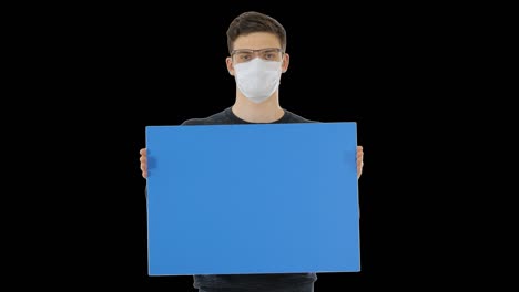
[[[234,65],[238,90],[254,103],[264,102],[279,86],[282,62],[256,58]]]

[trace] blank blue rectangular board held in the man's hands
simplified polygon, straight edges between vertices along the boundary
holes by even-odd
[[[145,131],[150,275],[360,270],[356,123]]]

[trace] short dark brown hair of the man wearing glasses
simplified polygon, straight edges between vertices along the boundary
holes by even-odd
[[[286,31],[274,18],[256,11],[248,11],[237,15],[227,29],[228,53],[233,52],[234,41],[240,35],[253,32],[269,32],[275,34],[281,42],[283,52],[286,51]]]

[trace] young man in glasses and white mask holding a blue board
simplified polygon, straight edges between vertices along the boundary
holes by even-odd
[[[245,12],[227,30],[230,56],[225,62],[236,81],[233,106],[205,118],[187,119],[182,125],[313,123],[279,106],[279,80],[288,69],[286,32],[275,19]],[[141,170],[147,177],[146,149],[141,149]],[[357,147],[357,171],[363,170],[363,148]],[[194,275],[194,288],[212,291],[311,292],[315,273]]]

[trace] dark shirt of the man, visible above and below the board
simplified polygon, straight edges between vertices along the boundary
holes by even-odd
[[[298,116],[287,109],[278,121],[272,124],[283,123],[316,123]],[[205,118],[191,118],[182,125],[225,125],[225,124],[254,124],[237,117],[231,107]],[[210,274],[194,275],[194,288],[196,289],[268,289],[294,288],[311,284],[317,280],[316,273],[271,273],[271,274]],[[233,290],[234,291],[234,290]]]

